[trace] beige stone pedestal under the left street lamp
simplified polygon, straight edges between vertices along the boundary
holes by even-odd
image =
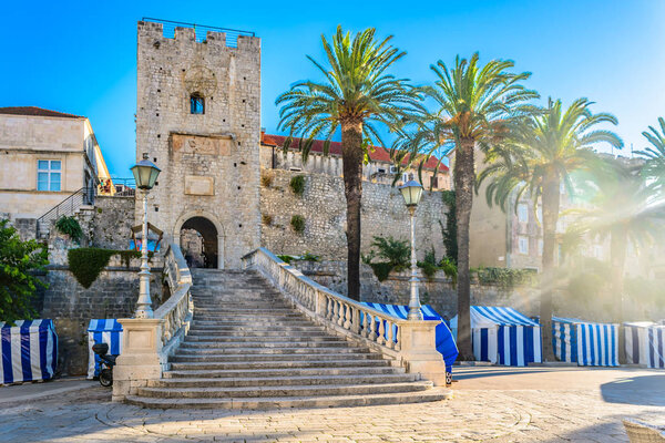
[[[122,354],[113,368],[113,401],[123,401],[162,377],[163,319],[120,319],[123,329]]]

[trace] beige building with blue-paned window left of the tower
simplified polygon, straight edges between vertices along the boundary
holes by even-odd
[[[0,109],[0,214],[37,219],[109,171],[90,121],[33,106]]]

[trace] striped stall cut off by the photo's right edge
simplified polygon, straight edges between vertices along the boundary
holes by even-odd
[[[665,326],[636,321],[626,322],[624,327],[628,363],[665,369]]]

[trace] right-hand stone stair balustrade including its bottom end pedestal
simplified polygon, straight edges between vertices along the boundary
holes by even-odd
[[[243,267],[270,280],[319,324],[365,342],[409,372],[420,372],[436,384],[446,383],[446,365],[436,346],[438,321],[403,320],[366,307],[317,284],[265,248],[243,257]]]

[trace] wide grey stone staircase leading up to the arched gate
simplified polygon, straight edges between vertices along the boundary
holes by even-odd
[[[193,270],[194,321],[170,370],[126,401],[147,408],[329,408],[449,398],[316,324],[256,272]]]

